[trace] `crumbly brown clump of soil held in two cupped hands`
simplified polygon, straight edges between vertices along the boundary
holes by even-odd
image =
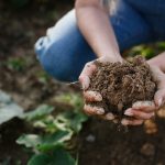
[[[92,106],[122,117],[124,110],[134,102],[153,100],[156,84],[143,57],[136,56],[124,63],[96,62],[96,65],[89,90],[99,91],[103,99],[101,102],[92,102]]]

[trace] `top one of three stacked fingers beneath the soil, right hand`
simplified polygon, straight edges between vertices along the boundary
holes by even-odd
[[[132,108],[134,110],[141,110],[145,112],[153,112],[156,108],[153,101],[136,101],[133,103]]]

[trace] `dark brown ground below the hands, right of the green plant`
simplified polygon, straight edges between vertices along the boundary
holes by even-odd
[[[165,119],[157,118],[156,125],[154,134],[142,125],[123,133],[91,118],[80,134],[79,165],[165,165]]]

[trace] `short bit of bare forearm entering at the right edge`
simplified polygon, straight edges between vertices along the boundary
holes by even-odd
[[[155,56],[154,58],[147,61],[150,65],[158,67],[162,72],[165,73],[165,52]]]

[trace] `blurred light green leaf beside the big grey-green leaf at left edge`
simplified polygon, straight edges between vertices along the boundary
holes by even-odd
[[[23,118],[25,118],[28,121],[40,120],[43,117],[52,113],[53,111],[54,111],[54,107],[42,105],[37,107],[35,110],[31,112],[26,112]]]

